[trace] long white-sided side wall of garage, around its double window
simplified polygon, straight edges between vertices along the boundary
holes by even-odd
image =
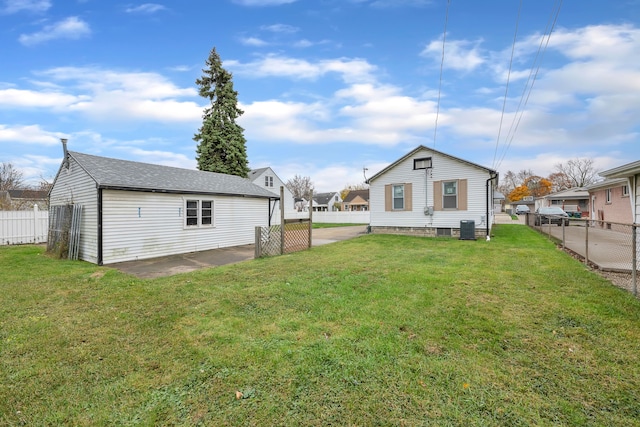
[[[213,227],[185,227],[184,200],[214,201]],[[268,199],[104,190],[103,263],[252,244]]]

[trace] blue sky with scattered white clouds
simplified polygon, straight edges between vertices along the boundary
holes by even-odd
[[[640,160],[639,0],[0,0],[0,161],[51,181],[64,137],[195,168],[213,47],[250,167],[317,191],[420,144],[501,174]]]

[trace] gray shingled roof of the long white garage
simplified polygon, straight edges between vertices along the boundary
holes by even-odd
[[[69,151],[69,156],[99,188],[273,198],[270,191],[235,175],[111,159],[75,151]]]

